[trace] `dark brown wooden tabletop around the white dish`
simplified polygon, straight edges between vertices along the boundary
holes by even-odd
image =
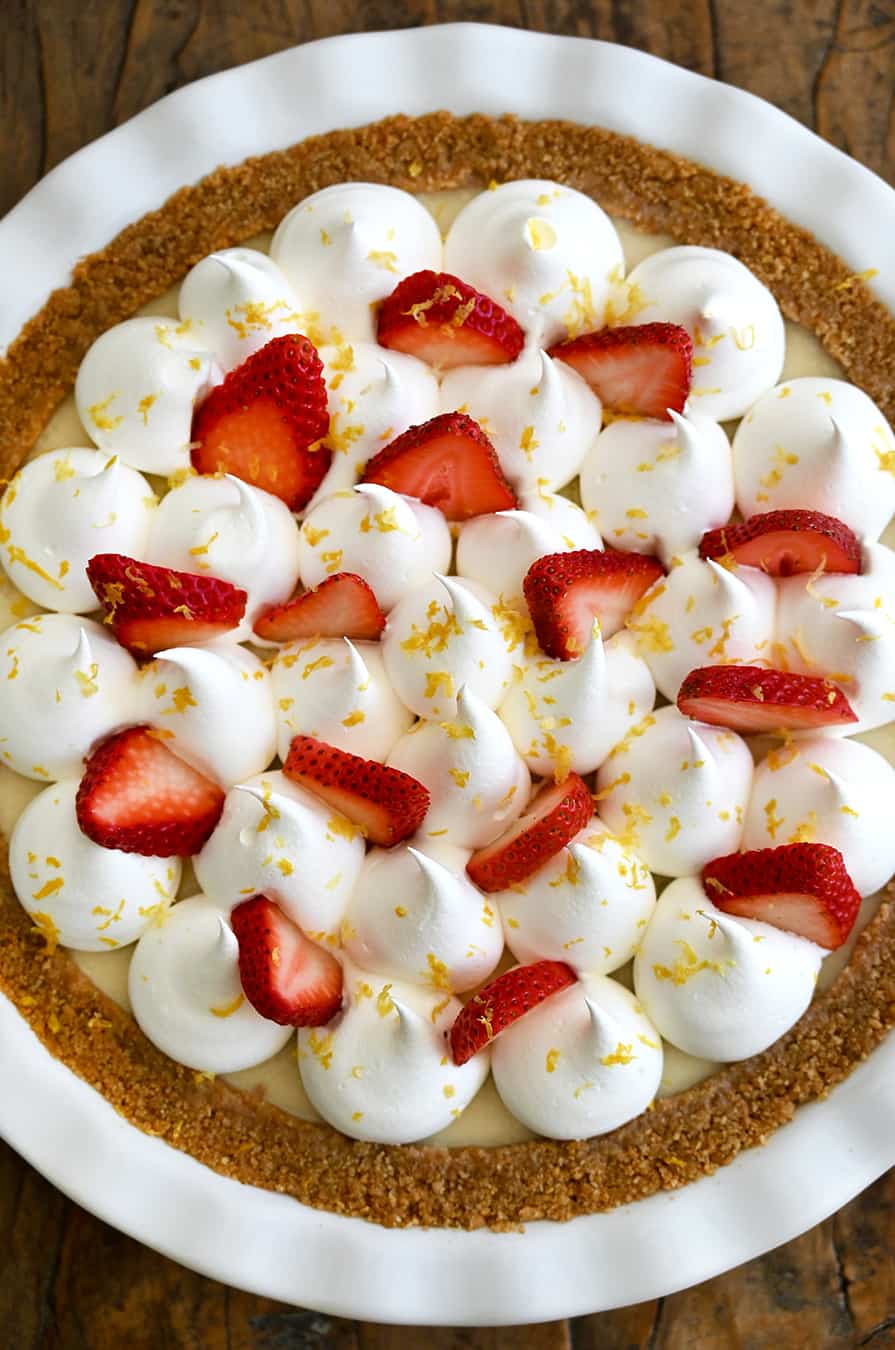
[[[312,38],[460,19],[667,57],[895,181],[895,0],[0,0],[0,212],[201,76]],[[0,1350],[882,1350],[895,1346],[894,1250],[890,1173],[803,1238],[656,1303],[508,1330],[356,1324],[192,1274],[0,1143]]]

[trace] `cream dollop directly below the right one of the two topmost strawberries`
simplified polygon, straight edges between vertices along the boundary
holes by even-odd
[[[724,429],[671,412],[606,427],[580,470],[580,500],[612,548],[675,555],[699,545],[733,510],[733,460]]]

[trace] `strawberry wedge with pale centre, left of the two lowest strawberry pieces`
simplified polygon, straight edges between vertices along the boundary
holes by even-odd
[[[266,895],[252,895],[229,917],[239,942],[243,994],[270,1022],[324,1026],[342,1007],[342,967],[305,937]]]

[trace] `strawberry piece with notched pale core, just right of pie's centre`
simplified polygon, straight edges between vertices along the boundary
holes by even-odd
[[[590,643],[594,618],[603,637],[612,637],[661,575],[655,558],[617,548],[539,558],[522,582],[537,641],[548,656],[574,660]]]

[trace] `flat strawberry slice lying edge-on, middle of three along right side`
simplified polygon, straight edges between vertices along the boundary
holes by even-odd
[[[832,680],[761,666],[701,666],[680,686],[678,707],[684,717],[747,734],[857,721],[845,694]]]

